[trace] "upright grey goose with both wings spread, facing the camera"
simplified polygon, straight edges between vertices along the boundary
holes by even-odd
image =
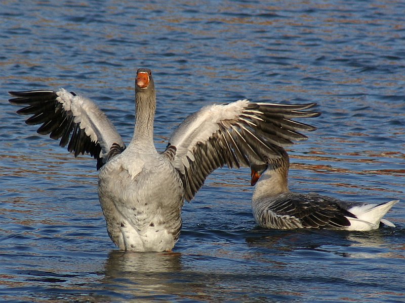
[[[249,167],[262,155],[279,157],[275,145],[303,140],[313,127],[291,118],[316,117],[315,104],[280,105],[238,100],[206,106],[187,117],[159,153],[153,143],[156,95],[149,69],[135,79],[136,123],[128,146],[107,116],[89,98],[58,91],[12,91],[17,111],[32,115],[28,125],[60,139],[74,156],[97,160],[98,195],[107,231],[123,250],[170,251],[182,225],[183,201],[190,201],[219,167]],[[274,145],[275,144],[275,145]]]

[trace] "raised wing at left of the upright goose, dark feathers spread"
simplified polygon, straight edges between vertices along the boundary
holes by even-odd
[[[114,125],[92,100],[61,88],[58,91],[10,91],[9,102],[26,106],[19,115],[32,115],[25,123],[42,124],[37,133],[68,144],[69,152],[77,157],[88,153],[97,160],[99,169],[112,156],[125,149]]]

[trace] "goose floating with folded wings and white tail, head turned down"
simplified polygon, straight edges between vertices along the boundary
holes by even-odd
[[[330,228],[365,231],[380,222],[395,227],[382,217],[399,200],[382,204],[356,203],[317,193],[296,193],[288,188],[289,156],[268,159],[266,165],[252,165],[254,185],[252,211],[259,226],[273,229]]]

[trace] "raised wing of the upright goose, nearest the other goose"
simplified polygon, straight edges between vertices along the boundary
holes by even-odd
[[[183,180],[185,198],[190,201],[215,169],[266,163],[278,157],[277,146],[289,146],[307,137],[299,131],[315,127],[291,120],[317,117],[304,111],[315,103],[282,105],[238,100],[207,106],[188,116],[172,133],[169,144],[176,146],[174,166]]]

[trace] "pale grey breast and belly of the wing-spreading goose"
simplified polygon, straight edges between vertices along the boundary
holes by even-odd
[[[168,158],[130,145],[100,169],[98,195],[108,234],[118,247],[138,251],[174,247],[184,193]]]

